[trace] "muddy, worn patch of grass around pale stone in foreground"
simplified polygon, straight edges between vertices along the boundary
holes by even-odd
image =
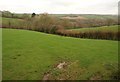
[[[43,80],[77,80],[78,76],[83,71],[84,70],[79,67],[79,61],[63,61],[46,72],[43,76]]]

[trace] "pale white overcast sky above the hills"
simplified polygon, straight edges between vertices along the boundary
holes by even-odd
[[[16,13],[117,14],[119,0],[0,0],[0,10]]]

